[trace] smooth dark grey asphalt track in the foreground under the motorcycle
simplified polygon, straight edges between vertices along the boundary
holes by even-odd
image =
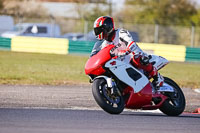
[[[0,133],[199,133],[200,115],[110,115],[98,110],[0,109]]]

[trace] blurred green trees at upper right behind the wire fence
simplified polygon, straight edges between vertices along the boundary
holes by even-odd
[[[198,11],[189,0],[126,0],[125,20],[136,23],[189,25]],[[129,11],[131,10],[131,11]]]

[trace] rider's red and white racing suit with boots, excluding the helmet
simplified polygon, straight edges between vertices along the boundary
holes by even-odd
[[[158,73],[156,68],[151,63],[143,63],[144,57],[148,58],[148,54],[144,53],[133,40],[129,32],[125,29],[117,29],[115,30],[115,35],[112,39],[112,42],[104,41],[101,45],[101,49],[109,44],[114,44],[116,46],[114,53],[115,55],[123,55],[127,52],[133,53],[133,65],[138,69],[142,69],[148,73],[150,78],[154,78],[156,82],[156,86],[162,86],[164,82],[164,78]]]

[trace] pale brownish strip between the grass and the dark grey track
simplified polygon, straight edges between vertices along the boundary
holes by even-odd
[[[200,107],[200,93],[183,88],[187,112]],[[91,85],[31,86],[0,85],[0,108],[89,108],[99,109]]]

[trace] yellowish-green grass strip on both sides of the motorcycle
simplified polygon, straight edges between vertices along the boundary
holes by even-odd
[[[88,83],[87,56],[0,51],[0,84],[63,85]],[[171,62],[161,74],[184,87],[200,87],[200,64]]]

